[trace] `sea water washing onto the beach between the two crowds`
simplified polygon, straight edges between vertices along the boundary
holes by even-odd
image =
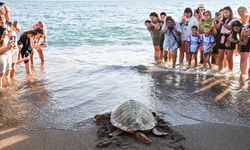
[[[227,2],[236,8],[249,1]],[[23,64],[17,66],[16,81],[0,91],[2,126],[81,130],[93,126],[95,114],[112,111],[129,99],[143,102],[173,125],[250,126],[249,81],[153,64],[150,35],[143,25],[148,14],[164,10],[180,16],[178,11],[195,8],[197,2],[8,3],[13,20],[23,29],[45,21],[49,48],[44,50],[44,66],[36,56],[32,77],[25,76]],[[213,13],[225,5],[204,3]]]

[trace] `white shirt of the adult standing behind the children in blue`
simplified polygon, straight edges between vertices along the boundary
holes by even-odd
[[[186,23],[182,24],[182,33],[181,33],[181,41],[187,41],[189,36],[192,35],[192,26],[198,26],[199,22],[198,20],[192,16],[189,18]]]

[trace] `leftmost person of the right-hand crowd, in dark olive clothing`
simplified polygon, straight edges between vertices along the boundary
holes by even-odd
[[[151,34],[153,45],[155,49],[155,60],[162,60],[162,52],[160,47],[160,37],[161,37],[161,22],[159,21],[158,14],[152,12],[150,15],[151,22],[146,24],[148,31]]]

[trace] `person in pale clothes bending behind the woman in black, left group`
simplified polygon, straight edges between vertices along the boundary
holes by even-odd
[[[42,48],[46,48],[48,46],[47,29],[45,27],[44,22],[42,22],[42,21],[39,21],[37,24],[35,24],[31,27],[31,30],[36,30],[36,29],[42,29],[43,33],[44,33],[41,37],[37,37],[35,39],[35,42],[38,43],[38,46],[36,49],[37,49],[37,52],[39,54],[39,58],[41,60],[41,63],[43,64],[44,63],[44,54],[43,54]],[[31,60],[31,64],[34,64],[34,51],[30,55],[30,60]]]

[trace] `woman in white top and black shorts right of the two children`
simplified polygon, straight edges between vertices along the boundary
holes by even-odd
[[[233,11],[230,6],[223,9],[223,18],[219,20],[218,26],[222,26],[219,32],[220,43],[219,48],[219,71],[223,68],[224,55],[226,54],[226,59],[228,63],[228,68],[230,71],[233,70],[233,53],[235,50],[234,45],[227,47],[226,41],[232,31],[232,23],[237,19],[233,18]]]

